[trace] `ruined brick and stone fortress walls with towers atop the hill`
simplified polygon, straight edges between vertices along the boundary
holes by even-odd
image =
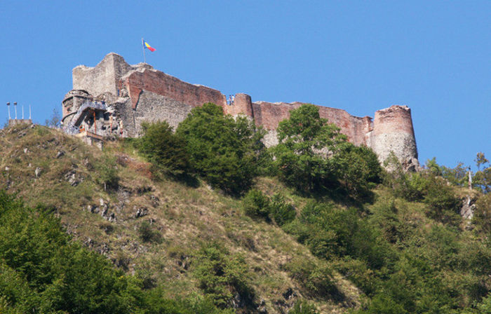
[[[73,90],[62,102],[63,123],[71,118],[81,103],[99,99],[107,103],[107,112],[86,113],[76,127],[86,128],[105,137],[137,137],[143,121],[167,121],[174,128],[186,118],[193,107],[213,102],[225,114],[243,114],[268,131],[267,146],[277,144],[276,128],[290,110],[302,102],[253,102],[249,95],[238,93],[233,104],[219,90],[181,81],[154,69],[149,64],[130,65],[120,55],[109,53],[95,67],[80,65],[73,69]],[[405,168],[419,166],[411,111],[406,106],[391,106],[369,116],[351,116],[343,109],[318,106],[322,118],[335,123],[350,142],[371,147],[384,161],[394,151]]]

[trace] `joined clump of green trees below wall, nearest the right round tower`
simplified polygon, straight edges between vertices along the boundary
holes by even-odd
[[[290,111],[278,126],[276,166],[283,181],[303,192],[338,189],[354,196],[368,193],[368,182],[379,182],[382,168],[367,147],[347,142],[339,128],[318,113],[313,104]]]

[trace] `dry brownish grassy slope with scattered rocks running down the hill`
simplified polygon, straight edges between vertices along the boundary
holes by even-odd
[[[297,298],[308,297],[300,282],[283,270],[291,260],[322,264],[309,250],[281,228],[253,221],[241,213],[240,201],[222,196],[201,184],[198,188],[150,179],[148,165],[120,143],[108,144],[105,153],[116,156],[119,188],[104,191],[97,170],[105,153],[41,126],[0,130],[0,189],[18,193],[28,205],[53,207],[67,232],[114,264],[147,282],[165,284],[173,294],[199,292],[190,274],[190,262],[201,243],[219,240],[233,253],[241,253],[250,269],[257,301],[264,299],[268,313],[280,313],[295,301],[283,293],[292,288]],[[62,152],[62,156],[56,156]],[[35,170],[41,172],[36,177]],[[70,182],[76,182],[72,185]],[[262,178],[267,193],[283,191],[297,208],[305,199],[276,180]],[[101,205],[103,203],[103,205]],[[107,212],[105,208],[107,207]],[[137,210],[147,212],[135,218]],[[114,214],[114,219],[109,218]],[[162,235],[160,243],[144,243],[137,231],[143,221]],[[192,267],[192,266],[191,266]],[[311,299],[322,313],[344,313],[363,297],[351,282],[335,274],[344,301]]]

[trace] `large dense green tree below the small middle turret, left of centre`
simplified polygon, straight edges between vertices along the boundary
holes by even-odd
[[[184,138],[193,168],[212,186],[240,195],[253,184],[264,132],[245,116],[224,116],[222,107],[203,104],[191,110],[176,134]]]

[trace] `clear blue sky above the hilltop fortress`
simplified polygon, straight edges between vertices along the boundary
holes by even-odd
[[[491,1],[0,1],[6,102],[37,123],[109,52],[253,101],[412,109],[419,161],[491,158]],[[20,107],[19,113],[20,115]]]

